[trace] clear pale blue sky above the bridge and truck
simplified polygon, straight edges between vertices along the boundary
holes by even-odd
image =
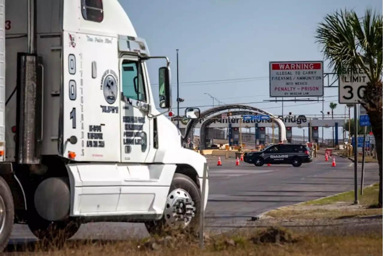
[[[314,32],[324,15],[345,7],[363,13],[366,7],[379,10],[383,6],[381,0],[120,0],[120,3],[137,35],[146,40],[151,55],[170,58],[176,114],[176,49],[180,97],[185,99],[180,106],[207,109],[213,103],[205,94],[209,93],[226,104],[259,102],[250,105],[280,115],[280,102],[263,102],[269,99],[269,61],[322,60]],[[157,69],[161,64],[157,60],[148,63],[154,92],[158,89]],[[325,88],[325,112],[329,111],[330,102],[337,103],[337,94],[337,88]],[[321,110],[321,102],[285,102],[283,112],[321,115]],[[344,105],[338,105],[335,113],[344,114]],[[325,129],[325,137],[331,136],[330,130]]]

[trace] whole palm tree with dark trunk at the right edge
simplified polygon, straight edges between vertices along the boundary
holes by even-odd
[[[350,68],[351,73],[362,68],[370,80],[360,104],[370,117],[375,135],[380,176],[378,205],[383,207],[383,104],[380,101],[383,99],[383,16],[370,8],[362,17],[352,10],[336,11],[319,23],[316,42],[338,76],[344,68]]]

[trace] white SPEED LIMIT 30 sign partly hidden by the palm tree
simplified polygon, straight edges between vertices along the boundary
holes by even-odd
[[[362,68],[353,72],[344,70],[339,76],[339,103],[357,104],[362,99],[367,83],[370,81]]]

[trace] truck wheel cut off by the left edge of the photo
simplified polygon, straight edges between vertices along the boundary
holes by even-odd
[[[11,236],[15,206],[11,189],[7,182],[0,177],[0,251],[8,245]]]

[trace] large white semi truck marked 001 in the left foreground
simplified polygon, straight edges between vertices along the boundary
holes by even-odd
[[[40,239],[94,221],[195,230],[206,159],[164,116],[170,63],[149,55],[119,2],[0,0],[0,17],[0,249],[14,223]],[[163,112],[151,58],[164,61]]]

